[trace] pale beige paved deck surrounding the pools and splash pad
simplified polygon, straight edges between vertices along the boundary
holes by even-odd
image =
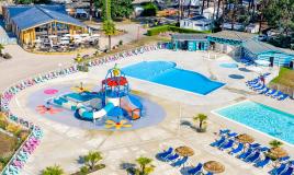
[[[278,102],[253,93],[245,85],[245,81],[256,78],[257,73],[219,67],[219,63],[233,61],[226,55],[217,55],[216,60],[214,60],[207,58],[207,52],[158,50],[120,60],[117,63],[120,67],[124,67],[142,60],[174,61],[180,68],[197,71],[208,78],[214,77],[216,80],[225,82],[226,85],[203,96],[129,78],[131,89],[140,92],[143,96],[161,105],[167,112],[167,117],[157,126],[122,132],[83,130],[68,127],[42,118],[27,107],[30,94],[41,88],[60,83],[78,84],[80,81],[99,85],[101,80],[104,79],[106,70],[112,68],[114,62],[91,68],[89,73],[76,73],[29,88],[14,97],[10,107],[14,114],[24,116],[39,125],[45,133],[41,145],[29,159],[22,174],[39,174],[44,167],[54,164],[58,164],[66,172],[72,173],[81,166],[78,163],[80,155],[86,154],[89,150],[99,150],[103,153],[103,163],[106,164],[106,168],[93,174],[124,175],[126,173],[122,166],[125,163],[134,163],[137,156],[144,155],[155,160],[156,171],[154,174],[180,175],[182,174],[180,168],[172,167],[168,163],[158,161],[155,158],[162,149],[168,147],[177,148],[179,145],[189,145],[195,152],[189,159],[188,166],[196,165],[199,162],[204,163],[215,160],[225,165],[226,171],[223,173],[224,175],[263,175],[271,170],[271,167],[256,168],[251,164],[239,161],[224,151],[210,147],[208,144],[217,138],[215,132],[220,128],[229,128],[239,133],[249,133],[257,142],[264,145],[268,145],[268,142],[272,140],[271,137],[264,133],[220,118],[211,112],[240,101],[251,100],[294,114],[293,101]],[[267,71],[275,74],[278,69]],[[245,79],[231,79],[228,77],[229,74],[240,74]],[[192,117],[199,113],[207,114],[210,118],[208,130],[205,133],[197,133],[191,128],[191,125],[194,125]],[[294,147],[285,144],[284,148],[294,158]]]

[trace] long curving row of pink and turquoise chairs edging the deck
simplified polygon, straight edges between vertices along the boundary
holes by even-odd
[[[125,52],[121,52],[121,54],[116,54],[114,56],[109,56],[109,57],[104,57],[102,59],[99,60],[93,60],[89,62],[89,66],[99,66],[102,63],[106,63],[110,61],[114,61],[117,59],[122,59],[122,58],[126,58],[133,55],[137,55],[137,54],[143,54],[145,51],[151,51],[151,50],[156,50],[156,49],[163,49],[166,48],[165,44],[159,44],[159,45],[149,45],[149,46],[143,46],[129,51],[125,51]],[[13,96],[22,91],[25,90],[26,88],[30,88],[32,85],[42,83],[42,82],[46,82],[48,80],[52,79],[56,79],[63,75],[67,75],[67,74],[71,74],[77,72],[77,65],[69,67],[69,68],[65,68],[63,70],[57,70],[57,71],[52,71],[42,75],[37,75],[27,80],[24,80],[18,84],[14,84],[12,86],[10,86],[9,89],[7,89],[1,96],[1,109],[9,116],[9,118],[11,120],[14,120],[21,125],[23,125],[24,127],[31,128],[32,129],[32,137],[33,138],[29,138],[29,143],[23,144],[22,148],[20,148],[19,152],[15,152],[15,154],[13,155],[13,158],[11,159],[11,161],[9,162],[9,164],[3,168],[2,172],[4,172],[4,175],[18,175],[20,174],[20,170],[21,167],[23,167],[24,163],[26,162],[26,160],[29,159],[29,155],[33,152],[33,150],[36,148],[36,145],[39,143],[41,137],[43,136],[42,130],[33,125],[30,121],[26,121],[25,119],[18,117],[13,114],[11,114],[10,109],[9,109],[9,103],[10,101],[13,98]]]

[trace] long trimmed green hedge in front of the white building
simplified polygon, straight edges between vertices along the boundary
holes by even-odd
[[[178,32],[178,33],[186,33],[186,34],[208,34],[212,33],[212,31],[194,31],[194,30],[189,30],[189,28],[181,28],[178,26],[173,25],[161,25],[161,26],[156,26],[147,31],[148,36],[154,36],[158,35],[159,33],[163,32]]]

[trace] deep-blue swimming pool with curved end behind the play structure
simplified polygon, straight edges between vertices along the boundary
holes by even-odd
[[[122,69],[133,78],[206,95],[224,83],[212,81],[197,72],[179,69],[174,62],[142,61]]]

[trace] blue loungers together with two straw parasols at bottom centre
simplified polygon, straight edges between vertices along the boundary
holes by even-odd
[[[157,159],[169,163],[173,167],[180,167],[180,172],[182,174],[189,175],[213,175],[225,172],[225,166],[216,161],[208,161],[206,163],[199,163],[196,166],[193,166],[191,162],[189,162],[189,156],[194,155],[193,149],[182,145],[173,149],[172,147],[163,150],[162,152],[157,154]],[[186,167],[185,165],[190,165]]]

